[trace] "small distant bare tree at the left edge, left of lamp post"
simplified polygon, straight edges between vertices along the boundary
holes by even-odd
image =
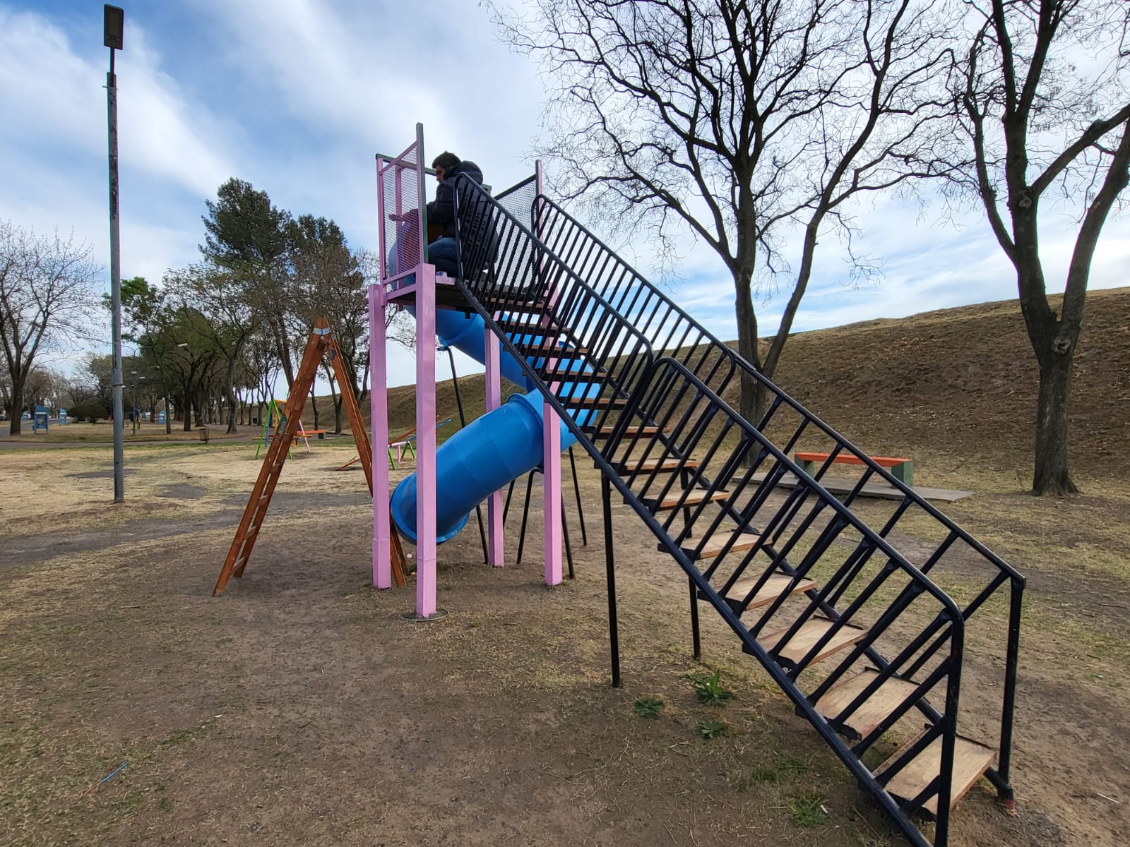
[[[90,251],[73,236],[37,236],[0,221],[0,347],[11,392],[11,435],[20,431],[24,392],[36,357],[89,329],[98,303],[98,268]]]

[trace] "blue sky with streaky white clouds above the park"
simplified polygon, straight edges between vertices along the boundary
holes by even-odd
[[[119,5],[123,277],[159,280],[195,260],[205,201],[229,176],[295,215],[333,218],[350,245],[375,248],[374,155],[406,147],[417,122],[429,157],[451,149],[472,158],[495,186],[532,172],[525,152],[539,131],[541,85],[531,61],[497,41],[476,0]],[[101,2],[0,0],[0,218],[73,230],[94,245],[108,280],[107,64]],[[939,222],[940,212],[897,200],[862,210],[862,246],[881,257],[883,279],[852,287],[829,245],[794,329],[1015,296],[982,219],[971,215],[955,228]],[[1070,220],[1058,215],[1043,247],[1050,287],[1061,289]],[[646,246],[635,254],[646,269]],[[1127,268],[1123,218],[1107,227],[1092,286],[1127,285]],[[736,337],[731,283],[709,252],[693,250],[670,285],[692,314]],[[763,296],[763,334],[783,300]],[[390,367],[392,382],[414,379],[406,353]]]

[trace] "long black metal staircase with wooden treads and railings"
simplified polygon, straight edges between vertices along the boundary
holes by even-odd
[[[685,573],[695,655],[705,604],[915,845],[947,842],[982,776],[1011,804],[1024,577],[530,181],[497,199],[460,181],[457,207],[460,291]],[[767,391],[758,421],[728,400],[741,381]],[[829,459],[809,474],[798,449]],[[841,454],[863,474],[837,498],[822,479]],[[895,499],[861,500],[876,481]]]

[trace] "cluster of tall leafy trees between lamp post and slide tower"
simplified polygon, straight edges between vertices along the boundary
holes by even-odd
[[[237,424],[262,420],[280,379],[289,391],[311,328],[324,316],[350,390],[366,396],[366,289],[376,257],[350,250],[332,220],[295,217],[242,180],[225,182],[207,208],[199,262],[169,270],[159,286],[140,277],[122,283],[147,387],[159,386],[184,429],[218,422],[234,433]],[[395,323],[394,312],[386,323]],[[392,328],[394,338],[403,333]],[[323,373],[340,433],[341,394],[328,363]],[[312,409],[321,427],[325,410],[316,399]]]

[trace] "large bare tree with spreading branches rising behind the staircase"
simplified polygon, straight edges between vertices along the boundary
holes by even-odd
[[[539,0],[498,16],[504,38],[553,81],[538,152],[566,199],[649,226],[670,256],[687,227],[733,279],[739,352],[772,377],[819,238],[846,235],[852,198],[932,175],[945,114],[942,2],[918,0]],[[620,224],[623,226],[623,224]],[[785,236],[802,232],[799,265]],[[754,291],[791,281],[763,359]],[[741,411],[763,400],[742,383]]]

